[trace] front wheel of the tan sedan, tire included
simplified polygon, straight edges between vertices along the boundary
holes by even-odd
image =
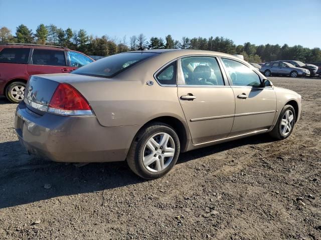
[[[293,106],[285,105],[277,119],[275,126],[269,134],[276,139],[287,138],[293,130],[295,124],[295,111]]]

